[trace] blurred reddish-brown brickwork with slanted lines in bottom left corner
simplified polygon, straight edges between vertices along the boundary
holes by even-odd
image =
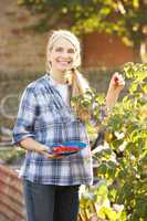
[[[18,173],[0,165],[0,221],[24,221],[22,182]]]

